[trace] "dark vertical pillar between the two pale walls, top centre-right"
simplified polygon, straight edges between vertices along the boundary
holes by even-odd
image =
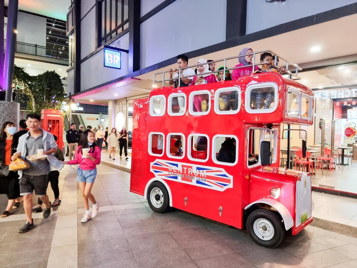
[[[247,0],[227,0],[226,40],[246,34]]]

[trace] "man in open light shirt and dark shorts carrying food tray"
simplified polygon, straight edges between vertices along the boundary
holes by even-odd
[[[32,193],[39,195],[43,202],[43,217],[47,218],[51,214],[51,203],[49,201],[47,190],[48,174],[50,166],[60,170],[63,164],[52,155],[56,152],[57,144],[53,135],[43,129],[40,129],[41,117],[38,114],[28,114],[26,116],[26,125],[30,130],[19,138],[17,152],[11,160],[16,158],[30,160],[30,168],[19,170],[20,195],[24,196],[24,209],[27,222],[19,229],[19,233],[25,233],[32,227]],[[44,157],[44,155],[46,157]]]

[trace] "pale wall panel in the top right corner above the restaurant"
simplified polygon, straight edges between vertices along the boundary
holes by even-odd
[[[246,34],[356,2],[357,0],[287,0],[283,3],[267,3],[264,0],[248,0]],[[266,19],[262,19],[263,17]]]

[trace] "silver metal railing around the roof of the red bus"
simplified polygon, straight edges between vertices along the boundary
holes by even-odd
[[[279,56],[278,54],[276,54],[276,53],[273,52],[272,50],[262,50],[262,51],[252,52],[252,53],[248,53],[248,54],[244,54],[244,55],[240,55],[240,56],[234,56],[234,57],[230,57],[230,58],[224,58],[224,59],[221,59],[221,60],[213,60],[213,61],[210,61],[209,63],[204,63],[204,64],[211,64],[211,63],[216,63],[216,62],[223,61],[223,63],[224,63],[224,65],[223,65],[223,70],[220,70],[220,71],[223,71],[223,73],[226,73],[226,71],[230,71],[230,70],[234,70],[234,69],[247,68],[247,67],[249,67],[249,66],[252,66],[252,71],[253,71],[253,73],[254,73],[256,66],[267,64],[266,62],[263,62],[263,63],[255,63],[256,54],[261,54],[261,53],[265,53],[265,52],[269,52],[269,53],[271,53],[272,55],[274,55],[274,66],[275,66],[275,68],[281,69],[279,66],[276,66],[278,59],[281,59],[281,60],[283,60],[283,61],[286,62],[286,71],[285,71],[285,73],[288,74],[288,77],[289,77],[290,79],[293,79],[293,80],[301,79],[300,76],[298,76],[298,71],[301,71],[302,68],[299,67],[297,64],[292,63],[292,62],[286,60],[285,58]],[[239,67],[233,67],[233,68],[227,68],[227,66],[226,66],[227,60],[236,59],[236,58],[240,58],[240,57],[245,57],[245,56],[248,56],[248,55],[253,55],[253,59],[252,59],[253,64],[244,65],[244,66],[239,66]],[[197,76],[197,74],[187,75],[187,76],[181,76],[181,70],[187,69],[187,68],[192,68],[192,67],[197,67],[197,66],[201,66],[201,65],[202,65],[202,63],[196,64],[196,65],[187,66],[187,67],[185,67],[185,68],[178,68],[178,69],[176,69],[176,71],[178,70],[178,78],[176,78],[176,79],[178,79],[178,86],[180,86],[180,84],[181,84],[181,78],[189,78],[189,77],[192,77],[192,76]],[[289,67],[289,66],[293,66],[293,67],[295,67],[295,69],[289,71],[289,70],[288,70],[288,67]],[[153,84],[155,85],[155,83],[161,83],[161,82],[162,82],[162,87],[164,87],[164,86],[165,86],[164,83],[165,83],[166,81],[174,80],[174,79],[172,79],[172,78],[165,79],[165,73],[169,73],[169,71],[162,71],[162,72],[159,72],[159,73],[155,73],[155,74],[154,74],[154,83],[153,83]],[[205,73],[205,74],[214,74],[214,73],[217,73],[217,71],[209,71],[209,72],[207,72],[207,73]],[[158,74],[162,74],[162,80],[156,80],[156,75],[158,75]],[[175,80],[176,80],[176,79],[175,79]],[[223,75],[223,80],[226,80],[226,76],[225,76],[225,75]]]

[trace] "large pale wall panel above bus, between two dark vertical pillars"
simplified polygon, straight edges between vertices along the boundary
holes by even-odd
[[[140,68],[225,41],[226,1],[219,2],[175,1],[144,21],[140,30]],[[208,18],[209,14],[213,17]]]

